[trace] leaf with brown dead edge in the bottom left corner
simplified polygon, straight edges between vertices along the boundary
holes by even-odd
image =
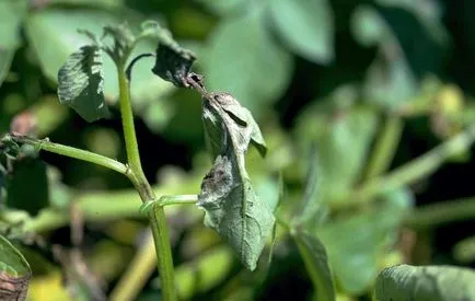
[[[31,275],[23,255],[0,235],[0,300],[25,300]]]

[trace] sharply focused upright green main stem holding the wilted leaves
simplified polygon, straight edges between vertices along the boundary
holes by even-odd
[[[117,72],[119,83],[120,114],[124,127],[124,137],[126,141],[127,160],[134,175],[130,178],[143,202],[154,201],[157,200],[157,197],[146,178],[140,163],[139,148],[134,125],[134,113],[130,103],[129,81],[126,76],[124,63],[117,65]],[[155,206],[154,210],[150,210],[148,217],[155,243],[158,258],[157,262],[162,282],[163,300],[174,301],[176,300],[176,291],[174,282],[173,257],[163,207]]]

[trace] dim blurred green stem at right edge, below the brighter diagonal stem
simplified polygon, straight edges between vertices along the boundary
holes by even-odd
[[[416,208],[404,221],[414,229],[425,229],[445,222],[475,218],[475,197],[447,200]]]

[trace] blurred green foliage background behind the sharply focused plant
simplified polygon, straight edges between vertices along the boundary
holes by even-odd
[[[93,124],[59,104],[57,72],[88,43],[78,28],[101,35],[111,23],[138,28],[157,20],[197,54],[194,70],[208,90],[230,92],[253,112],[269,153],[260,160],[251,151],[251,177],[259,196],[275,201],[282,175],[283,219],[300,215],[296,204],[316,142],[323,209],[305,222],[327,248],[338,300],[370,300],[378,271],[389,265],[475,267],[474,14],[471,0],[0,0],[0,132],[15,116],[27,117],[40,138],[125,161],[113,62],[104,59],[112,114]],[[210,166],[200,99],[154,77],[152,66],[153,59],[140,61],[131,83],[144,172],[160,194],[197,194]],[[412,165],[439,144],[445,148],[425,165]],[[0,225],[22,220],[36,233],[28,242],[16,238],[34,273],[28,298],[114,293],[136,258],[143,265],[132,267],[135,300],[159,300],[150,235],[127,178],[50,153],[40,159],[46,165],[22,162],[12,178],[2,177]],[[403,165],[404,175],[393,173]],[[285,232],[270,266],[250,273],[201,225],[201,211],[167,213],[182,298],[312,298]],[[78,250],[80,259],[71,256]],[[85,271],[74,268],[81,263]]]

